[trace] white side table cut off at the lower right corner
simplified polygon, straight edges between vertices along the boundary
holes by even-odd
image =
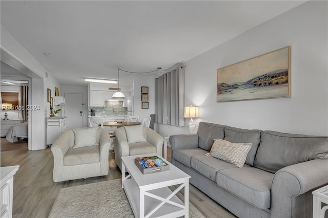
[[[328,204],[328,185],[323,186],[315,191],[313,194],[313,218],[324,218],[325,211],[328,210],[328,205],[321,208],[321,203]]]

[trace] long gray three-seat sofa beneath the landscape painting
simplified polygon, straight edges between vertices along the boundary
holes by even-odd
[[[206,156],[213,139],[252,143],[244,166]],[[312,191],[328,185],[328,137],[200,122],[170,144],[190,183],[238,217],[312,217]]]

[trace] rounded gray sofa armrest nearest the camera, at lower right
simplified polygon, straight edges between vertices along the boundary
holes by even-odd
[[[272,180],[271,216],[297,217],[297,213],[311,214],[311,192],[308,196],[302,196],[305,198],[303,200],[298,201],[297,197],[328,184],[327,166],[328,159],[315,159],[277,171]]]

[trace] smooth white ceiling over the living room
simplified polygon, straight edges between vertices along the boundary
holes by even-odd
[[[61,84],[86,85],[86,77],[117,79],[117,68],[166,70],[304,2],[2,0],[0,4],[3,27],[49,73]],[[120,78],[127,74],[120,72]]]

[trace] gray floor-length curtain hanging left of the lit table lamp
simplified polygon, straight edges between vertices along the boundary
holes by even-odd
[[[155,122],[185,126],[183,102],[185,92],[185,68],[178,67],[155,79]]]

